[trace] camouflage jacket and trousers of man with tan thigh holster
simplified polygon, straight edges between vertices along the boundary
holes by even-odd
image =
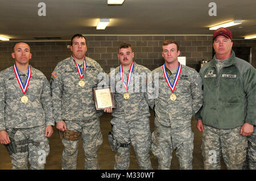
[[[83,69],[82,69],[83,73]],[[86,57],[86,69],[79,86],[80,76],[72,56],[57,64],[51,77],[53,118],[56,123],[64,120],[67,129],[80,132],[85,152],[85,169],[99,169],[97,149],[102,144],[100,120],[102,112],[96,112],[92,87],[97,87],[103,73],[100,64]],[[63,169],[76,169],[77,141],[62,140],[64,145]]]

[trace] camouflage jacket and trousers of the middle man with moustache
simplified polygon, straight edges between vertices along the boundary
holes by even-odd
[[[113,119],[111,123],[113,125],[113,137],[114,140],[118,141],[121,144],[131,144],[134,147],[135,153],[138,158],[138,165],[140,169],[152,169],[151,161],[149,156],[150,145],[151,145],[151,133],[150,133],[150,124],[148,116],[150,112],[148,110],[148,104],[154,104],[148,99],[146,91],[143,91],[143,88],[146,88],[146,77],[147,73],[151,73],[150,70],[144,66],[134,63],[133,75],[131,77],[131,83],[128,87],[130,94],[129,99],[124,99],[123,94],[126,90],[123,87],[122,78],[119,73],[119,67],[115,68],[110,72],[110,84],[115,81],[113,87],[114,99],[116,108],[113,110],[112,116]],[[127,81],[129,71],[123,73],[125,82]],[[140,75],[142,79],[138,83],[137,78]],[[135,83],[137,82],[137,83]],[[121,87],[121,89],[119,89]],[[137,91],[136,89],[138,89]],[[115,166],[114,169],[124,170],[129,169],[130,163],[130,148],[119,147],[115,154]]]

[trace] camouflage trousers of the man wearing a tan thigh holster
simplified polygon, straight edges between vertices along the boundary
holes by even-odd
[[[98,166],[97,150],[103,142],[100,129],[100,119],[86,121],[65,121],[67,129],[73,132],[80,132],[82,148],[85,154],[85,169],[96,170]],[[62,154],[62,169],[75,170],[79,140],[62,140],[64,150]]]

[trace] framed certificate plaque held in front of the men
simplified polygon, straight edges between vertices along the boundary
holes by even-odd
[[[93,98],[96,110],[104,110],[106,107],[115,108],[111,86],[93,87]]]

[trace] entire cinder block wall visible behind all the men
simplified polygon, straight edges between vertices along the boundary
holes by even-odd
[[[118,46],[123,42],[130,43],[135,53],[134,60],[138,64],[153,70],[163,65],[162,43],[164,40],[174,39],[180,46],[181,56],[187,58],[187,65],[199,71],[201,60],[212,58],[212,36],[86,36],[88,51],[86,56],[94,58],[109,73],[110,68],[119,65],[117,58]],[[0,71],[13,66],[11,58],[15,42],[0,42]],[[235,41],[234,44],[240,43]],[[41,70],[49,79],[56,64],[71,56],[67,45],[70,41],[30,41],[32,59],[30,64]],[[256,41],[254,46],[253,65],[255,67]]]

